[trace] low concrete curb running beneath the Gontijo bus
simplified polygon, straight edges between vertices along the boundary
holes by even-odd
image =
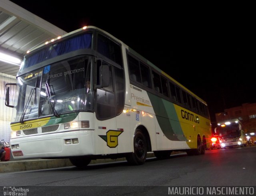
[[[147,154],[147,158],[154,157],[154,153],[150,152]],[[116,162],[124,161],[126,158],[116,159],[96,159],[92,160],[90,164],[104,163],[104,162]],[[20,160],[20,161],[6,161],[0,162],[0,173],[4,172],[18,172],[26,170],[39,170],[39,169],[50,169],[58,167],[73,166],[68,158],[66,159],[36,159],[36,160]]]

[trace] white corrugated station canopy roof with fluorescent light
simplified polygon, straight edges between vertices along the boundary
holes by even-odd
[[[0,73],[16,76],[28,50],[66,33],[17,4],[0,0]],[[20,62],[10,62],[10,56]]]

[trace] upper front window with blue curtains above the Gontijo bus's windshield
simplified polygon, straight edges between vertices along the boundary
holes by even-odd
[[[91,33],[82,34],[62,42],[51,44],[40,49],[36,53],[25,57],[23,61],[24,65],[20,68],[20,70],[71,51],[91,48],[91,46]]]

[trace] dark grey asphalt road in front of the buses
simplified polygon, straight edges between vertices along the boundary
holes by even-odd
[[[1,173],[0,186],[26,187],[28,196],[168,195],[168,188],[178,186],[255,186],[255,161],[256,146],[207,150],[200,156],[149,158],[141,166],[121,161]]]

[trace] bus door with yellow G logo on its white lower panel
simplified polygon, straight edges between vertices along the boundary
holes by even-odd
[[[124,131],[122,121],[124,109],[124,76],[123,69],[105,61],[97,61],[96,73],[96,154],[118,152],[118,141]],[[117,117],[119,120],[117,121]],[[122,151],[122,150],[121,150]]]

